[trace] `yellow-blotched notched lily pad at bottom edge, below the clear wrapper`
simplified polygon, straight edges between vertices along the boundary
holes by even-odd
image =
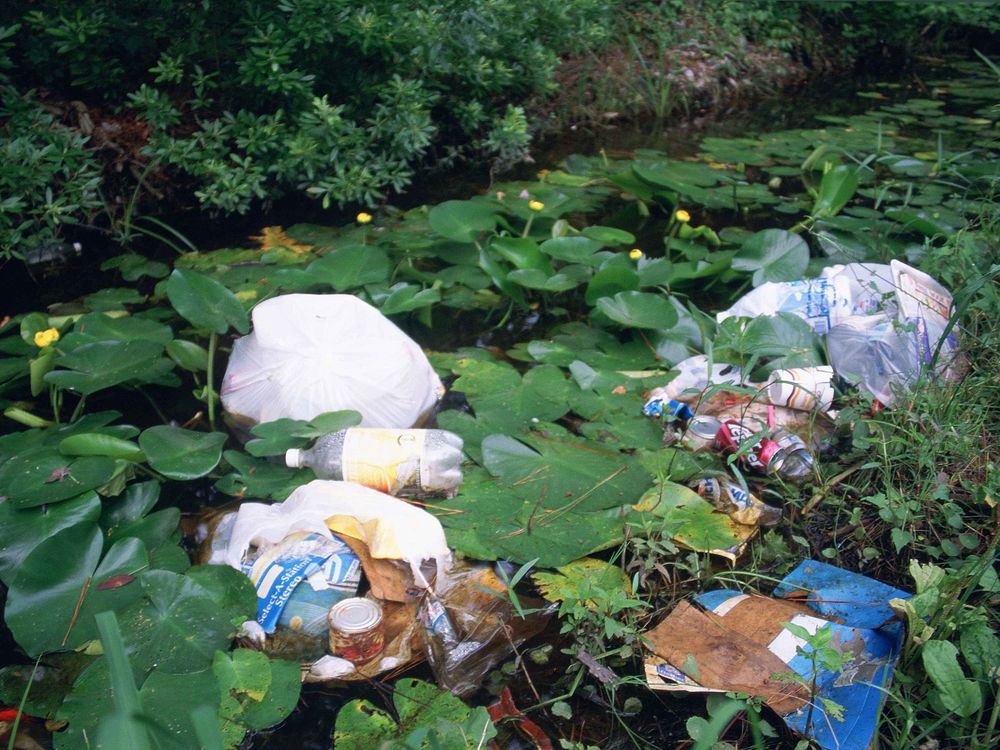
[[[473,709],[446,690],[423,680],[397,680],[392,702],[399,723],[366,700],[353,700],[337,713],[333,743],[337,750],[370,750],[392,740],[406,740],[414,750],[431,747],[484,746],[496,736],[486,709]],[[474,736],[467,732],[476,720]],[[425,730],[423,737],[415,732]],[[434,744],[431,744],[433,740]]]

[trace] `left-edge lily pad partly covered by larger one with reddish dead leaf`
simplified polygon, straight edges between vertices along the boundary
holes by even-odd
[[[96,522],[100,514],[101,500],[96,492],[23,510],[10,502],[0,503],[0,581],[9,587],[35,547],[63,529]]]

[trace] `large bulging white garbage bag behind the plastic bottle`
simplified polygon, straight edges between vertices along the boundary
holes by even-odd
[[[417,424],[444,393],[411,338],[349,294],[287,294],[253,309],[222,381],[226,411],[251,422],[361,412],[362,427]]]

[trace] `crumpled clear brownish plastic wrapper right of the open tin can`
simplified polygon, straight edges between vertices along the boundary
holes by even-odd
[[[418,617],[427,661],[441,688],[458,696],[474,693],[516,646],[542,631],[555,606],[520,600],[525,609],[541,611],[519,617],[506,584],[486,565],[456,571],[440,595],[424,597]]]

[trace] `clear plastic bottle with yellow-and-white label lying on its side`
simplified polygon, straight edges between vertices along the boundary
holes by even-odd
[[[446,430],[351,427],[292,448],[285,463],[320,479],[357,482],[390,495],[445,494],[462,483],[462,438]]]

